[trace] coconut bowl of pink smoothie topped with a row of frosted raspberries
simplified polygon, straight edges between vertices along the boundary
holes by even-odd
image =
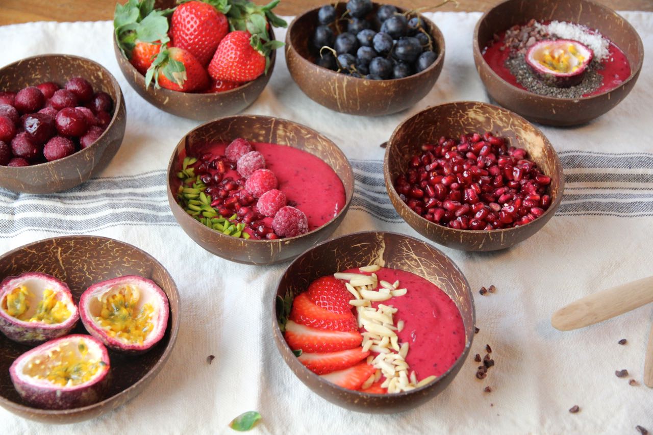
[[[229,116],[180,140],[168,163],[168,202],[183,231],[237,263],[286,261],[342,222],[354,189],[334,142],[293,121]]]

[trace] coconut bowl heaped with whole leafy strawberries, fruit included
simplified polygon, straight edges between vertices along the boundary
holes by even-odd
[[[125,79],[149,103],[193,120],[236,114],[274,69],[279,3],[129,0],[116,5],[114,51]]]

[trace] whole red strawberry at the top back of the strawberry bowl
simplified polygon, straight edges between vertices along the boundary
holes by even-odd
[[[216,6],[223,10],[203,1],[182,3],[170,20],[170,44],[191,52],[204,67],[229,31],[227,16],[223,14],[229,7],[226,1],[218,3]]]

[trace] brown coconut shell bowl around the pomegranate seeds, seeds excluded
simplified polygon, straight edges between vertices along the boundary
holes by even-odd
[[[394,180],[406,172],[409,160],[426,143],[437,143],[442,136],[458,138],[467,133],[491,131],[510,145],[524,148],[544,174],[551,177],[551,205],[534,221],[515,228],[490,231],[443,227],[415,213],[394,189]],[[521,116],[504,108],[461,101],[426,108],[400,124],[385,150],[383,176],[390,202],[408,225],[434,242],[463,251],[496,251],[509,248],[537,233],[555,214],[564,191],[564,174],[558,154],[549,139]]]

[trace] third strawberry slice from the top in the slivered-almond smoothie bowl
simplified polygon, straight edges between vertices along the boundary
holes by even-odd
[[[323,330],[299,325],[292,320],[285,326],[285,339],[293,350],[304,352],[334,352],[358,347],[363,336],[357,330],[348,332]]]

